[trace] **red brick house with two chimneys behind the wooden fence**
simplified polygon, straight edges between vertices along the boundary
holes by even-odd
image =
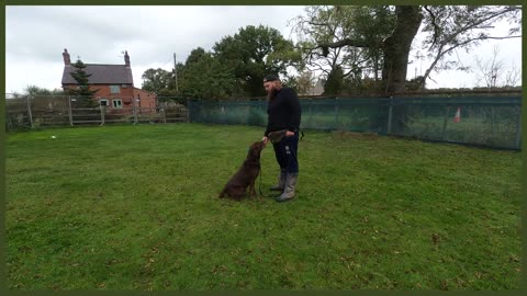
[[[63,89],[77,88],[77,81],[70,72],[71,66],[68,49],[64,49]],[[93,100],[105,105],[108,110],[143,109],[142,113],[155,113],[157,96],[155,93],[134,87],[128,53],[124,54],[124,65],[85,64],[85,71],[91,75],[88,78],[89,89],[97,90]],[[152,110],[150,110],[152,109]]]

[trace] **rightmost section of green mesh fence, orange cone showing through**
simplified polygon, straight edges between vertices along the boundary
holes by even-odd
[[[520,149],[520,98],[397,98],[391,134]]]

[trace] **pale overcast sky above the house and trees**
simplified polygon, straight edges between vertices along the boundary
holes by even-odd
[[[303,7],[7,7],[5,8],[5,91],[23,92],[27,86],[59,89],[67,48],[75,62],[124,65],[127,50],[134,84],[148,68],[170,70],[173,53],[184,61],[197,47],[211,50],[222,37],[234,35],[247,25],[268,25],[285,38],[294,38],[288,21],[303,13]],[[495,35],[507,29],[497,26]],[[456,58],[475,69],[478,56],[489,59],[497,44],[504,67],[522,69],[520,38],[487,42]],[[412,55],[411,55],[412,56]],[[412,59],[412,57],[411,57]],[[426,70],[427,62],[408,66],[408,78]],[[428,88],[472,88],[475,72],[448,71],[433,75],[437,83]],[[520,83],[520,82],[518,82]]]

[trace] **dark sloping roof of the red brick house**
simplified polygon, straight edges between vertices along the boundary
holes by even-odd
[[[92,75],[88,78],[90,84],[134,84],[132,68],[126,67],[126,65],[85,65],[85,71]],[[63,84],[77,84],[77,81],[70,75],[74,71],[72,66],[64,66]]]

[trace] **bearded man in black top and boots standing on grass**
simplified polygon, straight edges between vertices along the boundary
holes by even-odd
[[[264,143],[269,141],[269,133],[285,130],[284,137],[272,144],[277,162],[280,166],[278,184],[271,191],[281,191],[278,202],[285,202],[294,197],[294,187],[299,177],[299,160],[296,150],[299,146],[299,130],[301,107],[299,96],[291,88],[282,87],[282,82],[274,75],[264,78],[264,87],[267,91],[267,128],[264,134]]]

